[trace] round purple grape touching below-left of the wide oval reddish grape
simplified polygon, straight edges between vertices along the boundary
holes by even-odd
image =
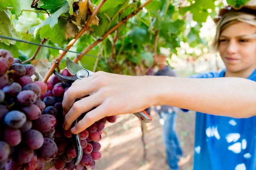
[[[25,143],[30,149],[38,149],[44,143],[44,136],[38,130],[31,129],[26,132]]]

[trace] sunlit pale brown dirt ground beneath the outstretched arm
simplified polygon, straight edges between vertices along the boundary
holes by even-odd
[[[151,112],[153,121],[147,124],[145,133],[146,161],[143,161],[143,143],[141,124],[133,114],[121,115],[114,124],[105,125],[102,133],[102,158],[96,161],[94,170],[169,170],[163,145],[163,129],[158,114]],[[184,156],[191,159],[180,170],[192,170],[194,154],[195,113],[183,113],[177,116],[176,130]]]

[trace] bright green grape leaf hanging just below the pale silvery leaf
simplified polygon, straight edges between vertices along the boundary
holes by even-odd
[[[65,39],[67,20],[58,20],[52,28],[49,25],[43,26],[40,30],[40,38],[49,38],[52,43],[62,46],[67,42]]]

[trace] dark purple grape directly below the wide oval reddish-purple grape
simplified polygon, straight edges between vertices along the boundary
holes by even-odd
[[[39,149],[39,152],[43,158],[53,159],[57,155],[58,148],[52,139],[44,138],[44,144]]]

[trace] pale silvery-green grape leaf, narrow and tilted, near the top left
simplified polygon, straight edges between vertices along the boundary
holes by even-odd
[[[62,14],[62,13],[66,13],[69,11],[69,5],[66,4],[65,6],[61,7],[58,11],[56,11],[55,13],[53,13],[50,17],[48,17],[46,20],[44,20],[41,24],[39,24],[38,26],[33,26],[32,28],[29,29],[29,33],[32,34],[32,37],[35,37],[35,34],[37,34],[37,31],[45,26],[45,25],[49,25],[51,28],[53,28],[53,26],[55,26],[56,23],[58,23],[58,17]]]

